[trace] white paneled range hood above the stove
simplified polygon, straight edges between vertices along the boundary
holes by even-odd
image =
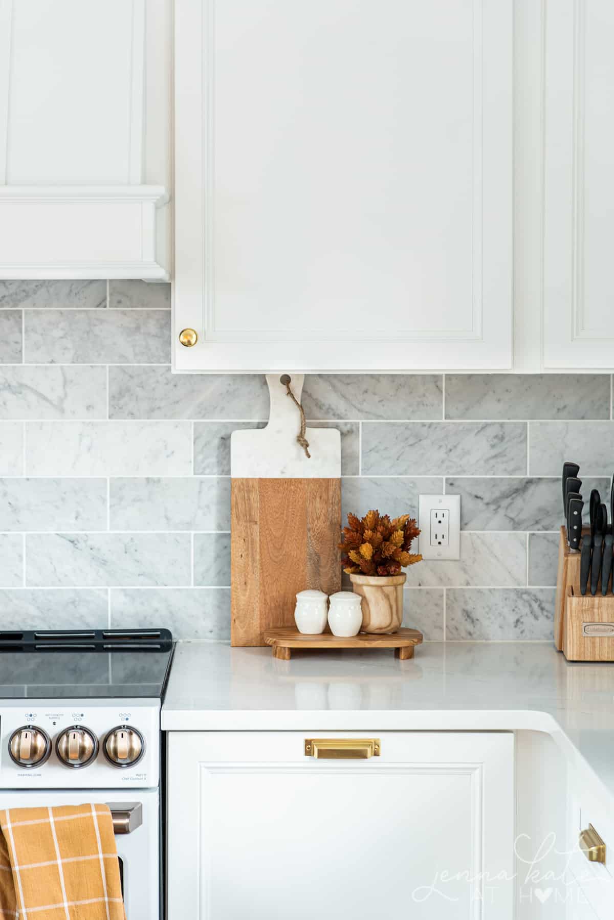
[[[169,0],[0,0],[0,278],[168,278]]]

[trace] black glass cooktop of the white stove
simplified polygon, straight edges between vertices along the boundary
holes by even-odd
[[[0,699],[162,698],[168,629],[0,630]]]

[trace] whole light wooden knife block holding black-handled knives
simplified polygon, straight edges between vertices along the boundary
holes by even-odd
[[[583,539],[589,533],[585,528]],[[567,661],[614,661],[614,594],[580,593],[580,556],[569,548],[562,527],[554,644]]]

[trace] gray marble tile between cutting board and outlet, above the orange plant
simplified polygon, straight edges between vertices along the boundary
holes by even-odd
[[[342,523],[349,512],[363,517],[372,508],[390,517],[399,514],[418,516],[418,496],[438,495],[441,478],[342,477]]]

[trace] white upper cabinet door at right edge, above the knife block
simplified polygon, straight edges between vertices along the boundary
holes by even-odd
[[[614,367],[614,4],[548,0],[544,366]]]

